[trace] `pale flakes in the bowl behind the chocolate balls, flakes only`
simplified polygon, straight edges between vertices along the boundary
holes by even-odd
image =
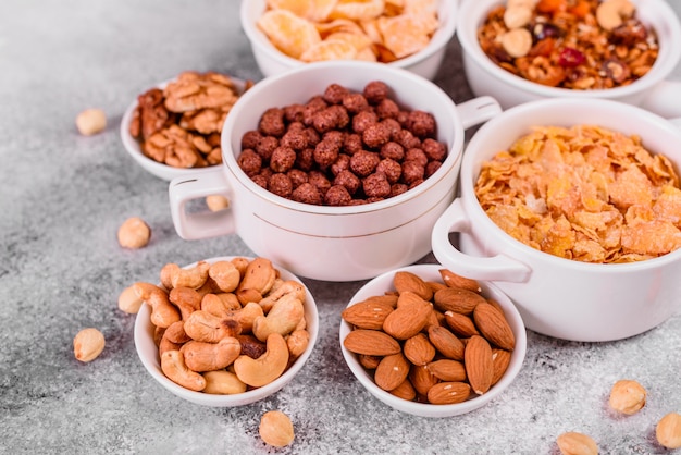
[[[304,62],[392,62],[425,48],[439,27],[435,0],[268,0],[258,27]]]

